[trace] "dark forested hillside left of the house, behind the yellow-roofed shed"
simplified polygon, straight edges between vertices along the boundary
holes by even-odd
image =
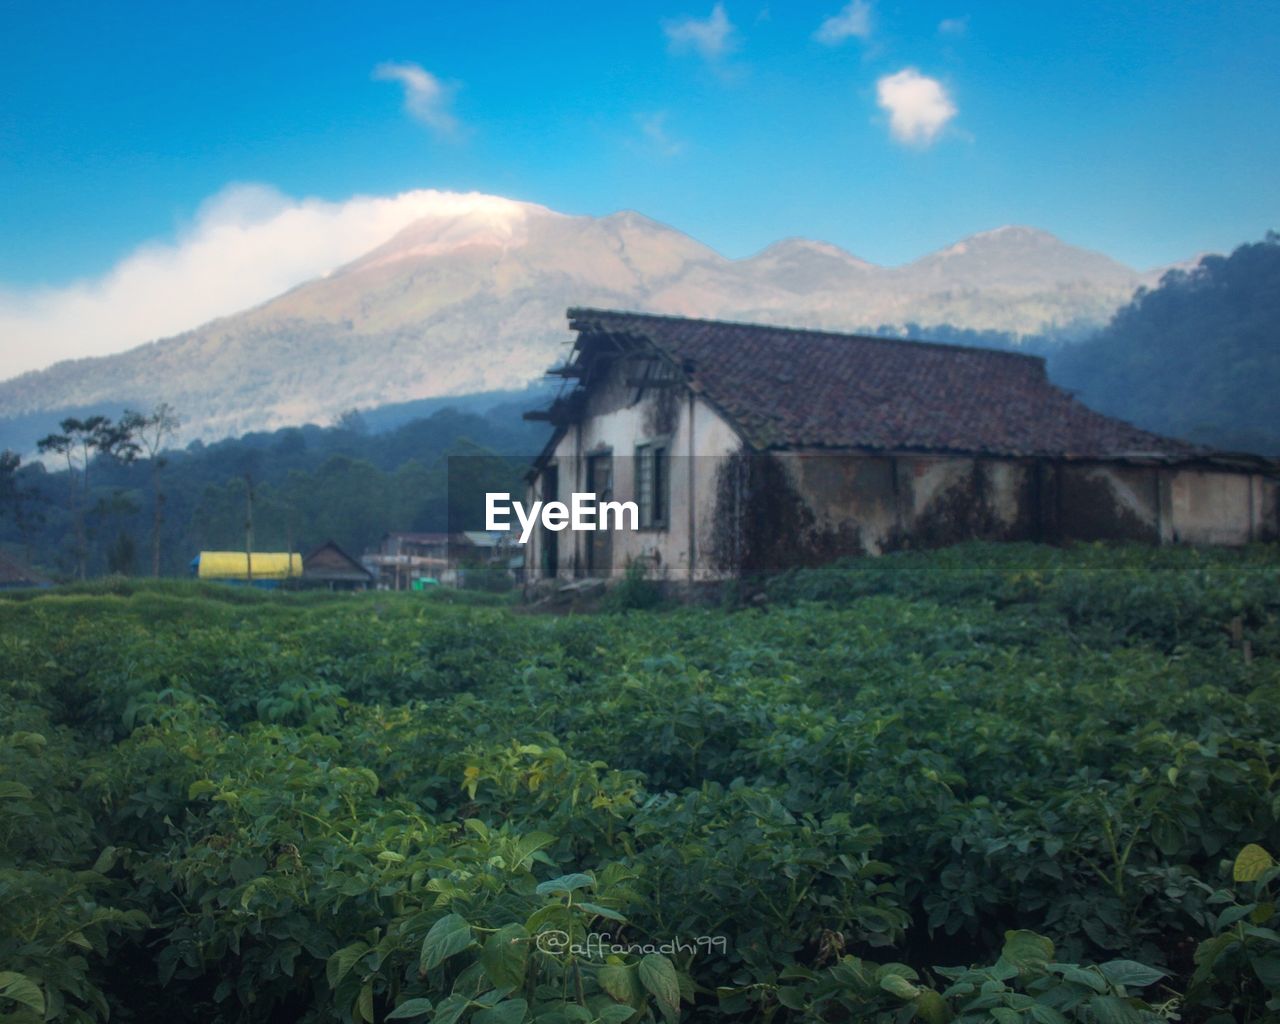
[[[150,572],[159,483],[164,575],[184,572],[201,549],[243,548],[250,486],[257,550],[305,552],[332,539],[358,556],[389,530],[449,526],[451,456],[481,457],[467,465],[477,483],[516,489],[544,439],[541,425],[524,422],[506,403],[483,412],[443,408],[384,433],[349,413],[332,428],[196,442],[160,460],[99,456],[83,494],[81,468],[35,462],[4,474],[0,543],[54,576],[74,575],[82,515],[87,575]],[[483,525],[466,518],[481,515],[481,503],[462,507],[454,495],[454,527]]]

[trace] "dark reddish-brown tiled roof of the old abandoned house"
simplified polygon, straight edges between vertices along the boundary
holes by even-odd
[[[988,348],[572,308],[576,357],[652,346],[753,447],[1004,456],[1193,456],[1083,406],[1037,356]]]

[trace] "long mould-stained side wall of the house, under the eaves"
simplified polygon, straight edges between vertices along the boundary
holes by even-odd
[[[739,452],[721,463],[712,518],[710,566],[740,576],[965,540],[1274,540],[1280,488],[1157,465]]]

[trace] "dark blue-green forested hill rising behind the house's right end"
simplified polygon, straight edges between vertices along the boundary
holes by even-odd
[[[1148,430],[1280,453],[1280,236],[1170,271],[1050,374]]]

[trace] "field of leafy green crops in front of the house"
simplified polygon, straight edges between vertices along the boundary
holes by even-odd
[[[0,599],[0,1020],[1280,1018],[1280,552],[767,593]]]

